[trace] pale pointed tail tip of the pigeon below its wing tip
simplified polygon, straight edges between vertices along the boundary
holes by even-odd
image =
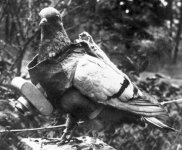
[[[164,123],[162,123],[160,120],[158,120],[155,117],[143,117],[145,121],[161,128],[161,129],[165,129],[167,131],[173,131],[173,132],[178,132],[175,128],[172,128]]]

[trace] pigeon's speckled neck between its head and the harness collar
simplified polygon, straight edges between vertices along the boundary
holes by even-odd
[[[62,54],[71,44],[71,41],[63,26],[59,28],[44,28],[41,31],[41,45],[39,49],[39,61],[49,58],[50,53]]]

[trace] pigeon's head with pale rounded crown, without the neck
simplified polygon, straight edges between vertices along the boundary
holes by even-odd
[[[39,16],[41,17],[41,21],[39,23],[40,26],[59,25],[62,23],[60,12],[53,7],[46,7],[42,9]]]

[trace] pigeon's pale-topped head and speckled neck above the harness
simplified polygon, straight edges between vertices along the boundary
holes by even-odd
[[[62,52],[70,45],[71,41],[63,27],[61,13],[53,8],[46,7],[39,13],[41,21],[41,44],[39,51],[39,59],[43,60],[49,57],[54,57]]]

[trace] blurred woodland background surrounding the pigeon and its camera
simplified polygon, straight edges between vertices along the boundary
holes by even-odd
[[[44,118],[16,114],[8,85],[15,76],[28,78],[27,63],[40,42],[39,11],[64,11],[64,27],[74,41],[89,32],[111,60],[144,91],[159,101],[182,98],[182,0],[1,0],[0,129],[63,123],[58,112]],[[182,104],[167,105],[173,127],[182,128]],[[44,120],[44,121],[42,121]],[[84,129],[77,135],[84,134]],[[61,131],[2,134],[0,149],[22,149],[22,137],[58,137]],[[151,127],[124,124],[103,133],[102,140],[119,150],[182,150],[182,137]],[[18,141],[18,142],[17,142]]]

